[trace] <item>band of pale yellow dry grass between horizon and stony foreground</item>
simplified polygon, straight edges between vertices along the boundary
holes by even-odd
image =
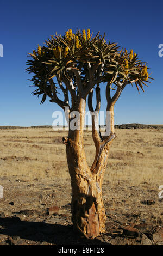
[[[28,178],[63,177],[68,174],[65,145],[67,131],[44,128],[0,130],[1,176]],[[105,181],[118,184],[148,184],[158,187],[163,182],[163,130],[116,129]],[[95,156],[91,132],[85,131],[85,151],[89,166]]]

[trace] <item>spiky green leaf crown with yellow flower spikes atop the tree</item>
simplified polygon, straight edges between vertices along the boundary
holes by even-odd
[[[93,34],[93,33],[92,33]],[[127,84],[135,83],[137,90],[149,83],[147,63],[139,60],[134,50],[129,52],[117,43],[107,42],[105,34],[99,32],[96,36],[90,29],[82,33],[72,29],[64,36],[52,35],[45,41],[45,46],[38,46],[37,50],[29,53],[32,59],[27,60],[26,69],[33,73],[33,95],[42,95],[41,103],[48,96],[51,102],[60,107],[70,107],[68,92],[71,94],[71,108],[76,105],[80,97],[87,94],[99,83],[107,83],[106,97],[110,97],[110,90],[122,92]],[[57,80],[53,80],[53,78]],[[54,82],[55,81],[55,82]],[[59,99],[58,93],[64,94],[64,100]],[[114,97],[114,96],[113,96]]]

